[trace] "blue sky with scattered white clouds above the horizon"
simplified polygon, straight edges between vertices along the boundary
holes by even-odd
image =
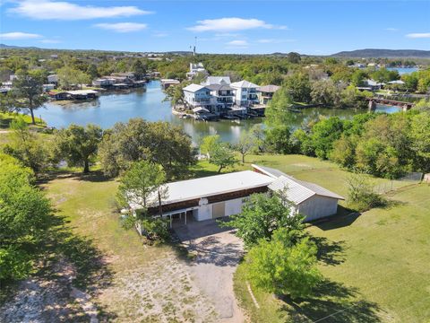
[[[430,0],[0,0],[0,43],[118,51],[329,55],[430,50]]]

